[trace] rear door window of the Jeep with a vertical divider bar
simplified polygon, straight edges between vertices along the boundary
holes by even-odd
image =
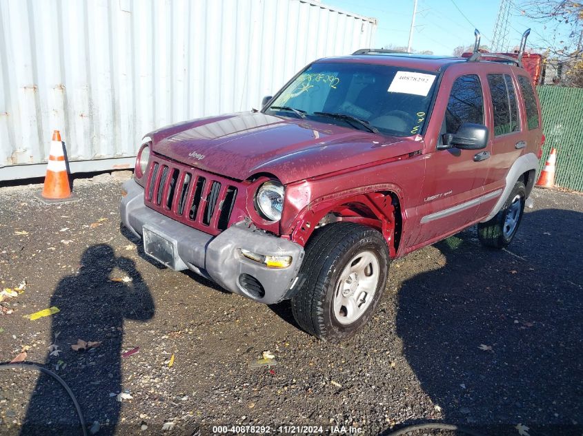
[[[494,136],[520,130],[516,92],[508,74],[488,74],[488,86],[492,95]]]

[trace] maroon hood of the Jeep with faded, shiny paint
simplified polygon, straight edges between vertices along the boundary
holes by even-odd
[[[192,167],[237,180],[269,173],[284,184],[422,149],[411,138],[261,112],[202,118],[148,136],[155,153]]]

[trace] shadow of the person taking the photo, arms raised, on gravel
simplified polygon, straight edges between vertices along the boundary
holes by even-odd
[[[46,367],[70,386],[88,425],[99,422],[99,435],[115,433],[121,402],[111,394],[123,391],[123,322],[150,320],[155,313],[146,283],[132,260],[116,257],[109,245],[93,245],[83,253],[79,273],[59,282],[50,306],[60,310],[52,315],[52,341],[59,348],[49,350]],[[74,351],[71,345],[79,339],[101,344]],[[51,377],[41,375],[21,435],[81,434],[77,424],[71,425],[76,422],[66,393]]]

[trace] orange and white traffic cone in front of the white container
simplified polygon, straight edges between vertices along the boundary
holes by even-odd
[[[67,172],[65,153],[63,151],[63,143],[61,142],[61,133],[59,130],[55,130],[52,133],[41,200],[45,200],[48,203],[56,203],[76,199],[72,195],[69,185],[69,175]]]

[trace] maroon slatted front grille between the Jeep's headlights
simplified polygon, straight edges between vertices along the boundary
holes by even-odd
[[[229,225],[240,183],[154,158],[148,167],[146,205],[190,227],[216,235]]]

